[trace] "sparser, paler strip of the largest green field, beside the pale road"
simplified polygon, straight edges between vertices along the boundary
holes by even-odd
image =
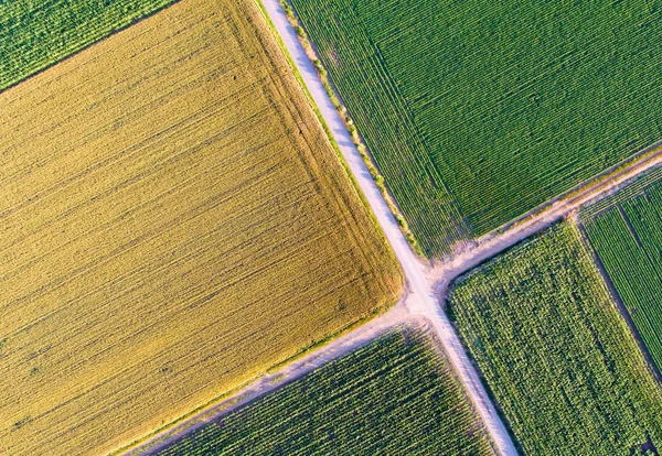
[[[424,251],[447,253],[468,230],[380,48],[346,2],[293,4]]]

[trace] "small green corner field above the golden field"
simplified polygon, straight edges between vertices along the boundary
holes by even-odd
[[[0,2],[0,90],[173,1]]]

